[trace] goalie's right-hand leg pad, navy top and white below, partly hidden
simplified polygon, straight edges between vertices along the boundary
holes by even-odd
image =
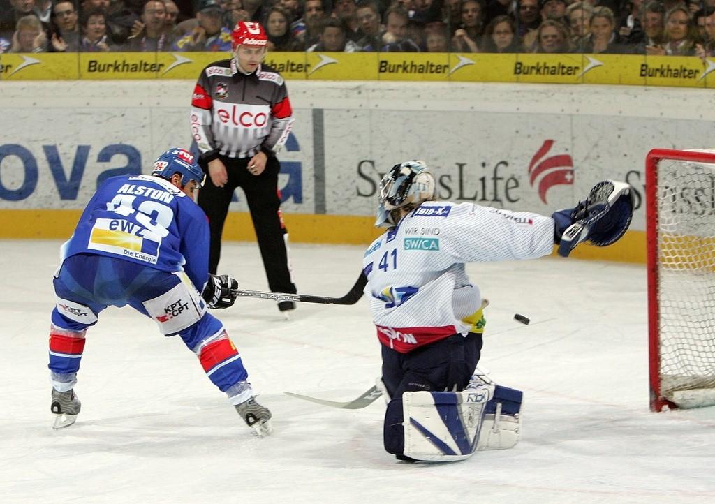
[[[513,448],[521,438],[523,392],[501,385],[489,385],[489,387],[493,388],[493,395],[485,407],[477,449],[506,450],[506,448]]]

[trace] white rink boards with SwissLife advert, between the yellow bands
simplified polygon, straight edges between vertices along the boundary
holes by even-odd
[[[112,174],[192,142],[194,82],[4,82],[0,212],[81,209]],[[604,178],[638,192],[654,147],[713,147],[706,89],[289,81],[296,122],[280,185],[288,214],[372,216],[378,180],[423,159],[439,196],[549,213]],[[232,209],[245,210],[235,202]]]

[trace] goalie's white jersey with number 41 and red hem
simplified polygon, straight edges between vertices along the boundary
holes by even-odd
[[[380,342],[398,352],[466,335],[480,307],[466,262],[551,254],[554,222],[531,212],[424,202],[370,245],[363,259]]]

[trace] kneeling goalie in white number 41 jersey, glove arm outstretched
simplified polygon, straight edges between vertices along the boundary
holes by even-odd
[[[511,405],[518,417],[521,392],[458,392],[470,385],[484,323],[482,296],[465,263],[541,257],[555,243],[568,255],[584,239],[610,244],[630,223],[629,189],[601,182],[575,208],[546,217],[434,201],[435,179],[422,162],[395,164],[385,174],[375,224],[389,229],[365,252],[363,273],[382,344],[383,392],[391,398],[384,425],[388,453],[400,460],[467,458],[477,448],[480,419],[490,404],[503,399],[497,423],[502,407]],[[518,424],[515,429],[511,445]],[[491,448],[508,448],[504,444]]]

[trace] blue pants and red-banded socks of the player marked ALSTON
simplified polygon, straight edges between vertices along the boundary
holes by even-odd
[[[97,323],[102,310],[129,305],[151,317],[144,302],[172,290],[179,282],[179,277],[170,272],[119,258],[93,254],[68,257],[54,279],[58,300],[52,310],[49,369],[67,377],[60,381],[74,381],[87,328]],[[232,386],[247,380],[248,372],[222,322],[205,309],[197,322],[178,334],[219,390],[231,397],[235,390]]]

